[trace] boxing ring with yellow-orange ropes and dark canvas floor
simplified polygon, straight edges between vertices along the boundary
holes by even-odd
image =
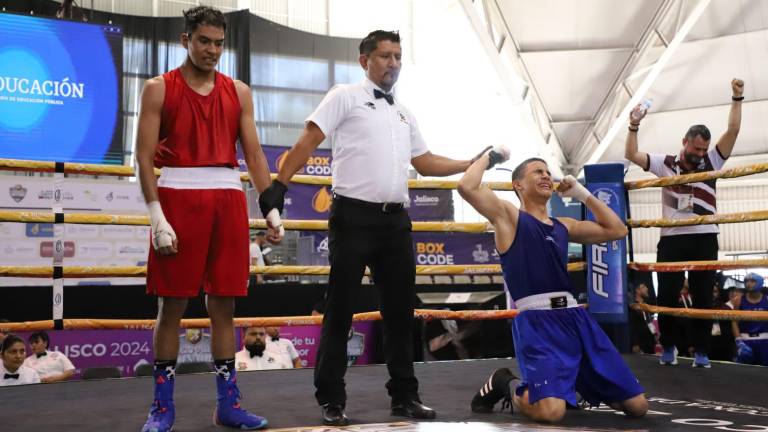
[[[0,169],[54,172],[54,182],[64,173],[133,176],[131,167],[69,164],[36,161],[0,160]],[[739,177],[768,171],[768,164],[758,164],[711,173],[691,174],[642,182],[629,182],[628,190],[684,184],[712,178]],[[243,175],[247,181],[247,175]],[[330,184],[329,178],[296,176],[295,182]],[[488,184],[488,183],[486,183]],[[496,190],[511,190],[510,183],[491,183]],[[453,189],[456,182],[410,181],[412,188]],[[628,205],[628,204],[627,204]],[[52,212],[0,212],[0,222],[49,222],[54,224],[126,224],[148,225],[146,216],[96,215],[64,213],[53,206]],[[689,220],[628,220],[630,228],[680,226],[704,223],[738,223],[768,220],[768,211],[718,214]],[[251,220],[251,228],[264,228],[263,220]],[[325,221],[284,221],[286,229],[325,230]],[[414,231],[486,232],[486,223],[414,222]],[[742,269],[768,267],[768,260],[691,261],[677,263],[630,262],[627,268],[639,271],[683,271],[704,269]],[[579,271],[585,263],[569,264],[569,271]],[[327,274],[326,266],[251,267],[252,274]],[[498,265],[431,265],[417,266],[420,275],[494,275]],[[145,267],[82,266],[0,266],[0,276],[53,278],[56,283],[68,277],[140,277]],[[768,312],[727,310],[674,309],[650,305],[638,307],[653,313],[687,318],[768,320]],[[418,309],[423,320],[510,319],[516,310],[444,311]],[[356,314],[356,321],[379,320],[378,312]],[[238,327],[288,326],[319,324],[320,316],[236,318]],[[185,319],[183,328],[208,327],[208,319]],[[0,323],[3,331],[51,329],[148,329],[154,320],[64,319],[61,309],[54,310],[51,320]],[[416,364],[420,393],[424,402],[438,412],[431,422],[403,421],[389,414],[389,399],[384,391],[386,367],[355,366],[346,376],[349,405],[347,415],[352,425],[333,428],[320,426],[320,409],[314,400],[312,370],[274,370],[240,372],[239,385],[244,394],[242,404],[253,412],[266,415],[270,430],[285,431],[566,431],[566,430],[731,430],[768,431],[768,369],[730,362],[713,361],[712,369],[692,368],[691,360],[680,359],[678,367],[660,367],[658,358],[650,355],[626,355],[625,361],[646,389],[650,411],[641,419],[626,419],[613,410],[586,408],[569,410],[562,423],[544,426],[533,423],[519,413],[497,409],[493,414],[474,414],[469,403],[478,387],[491,371],[499,367],[517,370],[515,359],[465,360]],[[211,430],[214,400],[211,373],[185,375],[176,382],[177,421],[175,430]],[[152,381],[147,377],[69,381],[50,385],[0,388],[0,412],[7,413],[3,431],[28,430],[105,430],[140,429],[149,402]]]

